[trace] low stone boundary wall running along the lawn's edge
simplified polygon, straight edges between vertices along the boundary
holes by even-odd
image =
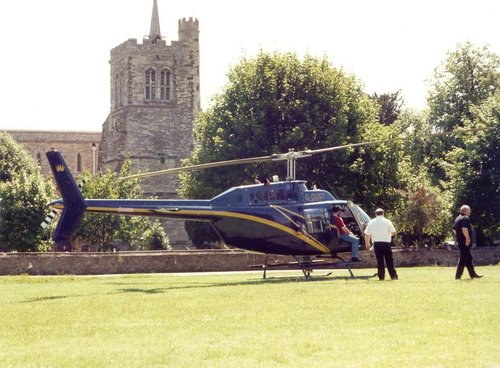
[[[457,249],[394,249],[396,267],[455,266]],[[376,268],[373,252],[360,253],[352,268]],[[500,262],[500,247],[473,250],[478,266]],[[259,269],[265,255],[237,250],[117,253],[0,253],[0,275],[103,275],[132,273],[247,271]],[[293,261],[271,256],[269,263]],[[343,267],[338,265],[337,267]]]

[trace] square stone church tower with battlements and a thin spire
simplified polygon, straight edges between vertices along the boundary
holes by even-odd
[[[178,21],[178,41],[160,32],[157,1],[142,44],[129,39],[111,50],[111,111],[103,124],[99,167],[118,171],[128,155],[133,172],[180,166],[193,148],[200,110],[199,24]],[[145,195],[176,198],[177,176],[144,179]],[[177,234],[177,230],[179,234]],[[184,224],[167,224],[171,242],[187,240]]]

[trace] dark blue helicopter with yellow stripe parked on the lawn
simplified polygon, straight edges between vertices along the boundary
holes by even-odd
[[[477,130],[477,129],[476,129]],[[431,136],[470,132],[446,132]],[[394,138],[391,139],[393,141]],[[341,208],[340,216],[364,246],[364,230],[370,217],[358,205],[335,198],[322,189],[308,189],[306,181],[296,180],[296,160],[313,154],[331,152],[350,147],[380,144],[390,140],[353,143],[317,150],[294,151],[284,154],[235,159],[156,172],[129,175],[122,179],[148,177],[183,170],[200,170],[212,167],[239,165],[266,161],[287,161],[287,178],[232,187],[212,199],[85,199],[72,176],[62,154],[52,149],[46,153],[56,185],[62,198],[49,204],[62,211],[52,235],[56,244],[70,244],[84,213],[106,213],[127,216],[153,216],[179,220],[203,221],[210,224],[223,244],[234,248],[266,254],[264,277],[269,255],[295,258],[307,277],[314,268],[329,267],[340,261],[351,277],[350,262],[340,254],[350,253],[351,245],[344,243],[338,229],[332,225],[333,207]],[[328,261],[325,261],[328,259]]]

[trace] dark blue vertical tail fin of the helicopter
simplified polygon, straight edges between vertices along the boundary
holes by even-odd
[[[46,155],[64,204],[52,240],[56,243],[57,250],[71,251],[71,238],[78,225],[80,225],[87,206],[61,153],[52,150],[47,152]]]

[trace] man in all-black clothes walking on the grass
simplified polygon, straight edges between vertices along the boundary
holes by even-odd
[[[483,277],[483,275],[478,275],[476,273],[472,262],[472,254],[470,252],[472,244],[472,228],[469,220],[470,212],[471,210],[469,206],[463,205],[460,207],[460,215],[455,219],[452,229],[453,234],[457,237],[458,248],[460,249],[460,258],[458,260],[457,272],[455,274],[455,279],[457,280],[462,278],[464,267],[467,267],[467,271],[469,271],[471,279]]]

